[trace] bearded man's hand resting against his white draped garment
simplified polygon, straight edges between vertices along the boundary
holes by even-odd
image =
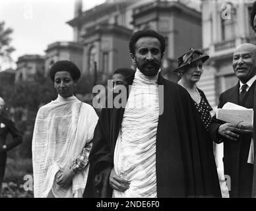
[[[129,185],[130,181],[122,179],[121,177],[117,176],[117,174],[115,173],[115,169],[112,168],[110,172],[110,187],[117,191],[123,192],[129,189]]]

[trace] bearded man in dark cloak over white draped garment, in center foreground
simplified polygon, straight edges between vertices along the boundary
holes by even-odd
[[[161,76],[164,37],[135,32],[124,107],[102,109],[84,197],[220,197],[208,137],[188,92]],[[129,85],[129,88],[128,88]]]

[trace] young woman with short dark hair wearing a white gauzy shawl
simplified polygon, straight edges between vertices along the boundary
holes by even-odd
[[[73,90],[80,78],[71,61],[50,69],[58,97],[40,107],[32,139],[34,197],[82,197],[98,116]]]

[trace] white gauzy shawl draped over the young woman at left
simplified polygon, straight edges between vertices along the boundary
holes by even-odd
[[[56,184],[56,173],[69,169],[86,143],[92,145],[97,121],[93,107],[75,96],[58,96],[39,109],[32,138],[34,197],[47,197],[49,191],[55,197],[82,195],[89,165],[73,177],[73,184],[67,189]]]

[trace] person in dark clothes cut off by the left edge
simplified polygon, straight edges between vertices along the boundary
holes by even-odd
[[[13,141],[6,144],[7,134],[13,136]],[[0,97],[0,196],[3,177],[5,175],[5,165],[7,160],[7,151],[11,150],[22,142],[22,136],[15,127],[15,123],[5,113],[5,100]]]

